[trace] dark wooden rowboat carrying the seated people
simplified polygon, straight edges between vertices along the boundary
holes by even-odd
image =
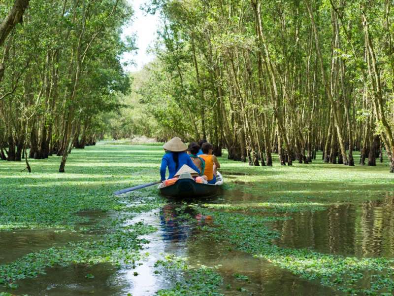
[[[222,174],[216,174],[215,184],[202,184],[194,181],[192,174],[181,174],[173,185],[159,185],[161,193],[165,196],[179,198],[208,197],[218,193],[219,187],[223,185],[224,180]]]

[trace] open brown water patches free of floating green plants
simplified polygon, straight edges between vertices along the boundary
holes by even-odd
[[[265,201],[261,197],[237,191],[204,202],[215,203],[256,203]],[[135,269],[115,269],[109,264],[93,266],[75,265],[56,267],[46,275],[20,281],[20,288],[12,293],[17,295],[154,295],[156,291],[171,287],[171,279],[164,274],[155,274],[154,264],[163,259],[162,253],[187,257],[189,263],[197,266],[217,266],[224,278],[224,287],[230,284],[225,295],[283,295],[283,296],[326,296],[339,295],[319,282],[302,280],[292,273],[277,268],[267,261],[256,259],[250,254],[231,250],[224,243],[216,243],[197,229],[197,224],[182,220],[181,207],[169,201],[161,209],[138,214],[127,221],[131,224],[145,221],[159,231],[144,236],[151,241],[142,252],[149,252]],[[191,210],[188,214],[197,215]],[[291,217],[287,221],[268,224],[281,236],[275,243],[288,248],[310,248],[318,252],[356,257],[384,256],[394,258],[394,196],[388,194],[373,201],[331,205],[324,211],[283,214]],[[97,223],[99,214],[91,215]],[[202,222],[200,222],[202,223]],[[18,230],[0,232],[0,263],[15,260],[32,251],[53,245],[62,245],[71,240],[86,239],[95,233],[55,230]],[[138,276],[134,276],[138,272]],[[87,273],[94,279],[86,279]],[[249,277],[248,282],[233,277],[240,273]],[[248,292],[240,292],[240,288]],[[0,291],[5,291],[0,288]]]

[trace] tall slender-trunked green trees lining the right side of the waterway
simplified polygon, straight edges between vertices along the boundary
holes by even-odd
[[[231,159],[392,159],[392,1],[153,0],[163,26],[142,89],[164,138]]]

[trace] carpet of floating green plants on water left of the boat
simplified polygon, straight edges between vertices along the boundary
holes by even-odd
[[[125,222],[138,213],[160,207],[163,199],[155,188],[120,197],[112,192],[155,178],[153,170],[146,170],[157,164],[155,152],[159,159],[160,150],[155,146],[73,150],[65,174],[56,173],[58,157],[32,160],[32,174],[19,172],[22,163],[1,163],[8,169],[0,171],[1,229],[56,227],[89,232],[99,227],[102,234],[65,246],[44,248],[0,265],[0,286],[16,288],[18,281],[45,274],[47,268],[59,265],[109,262],[135,267],[134,263],[141,259],[142,245],[148,243],[139,236],[156,228],[143,222],[124,226]],[[79,215],[85,210],[110,214],[89,224],[89,215]]]

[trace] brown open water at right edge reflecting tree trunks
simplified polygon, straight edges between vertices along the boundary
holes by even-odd
[[[289,248],[357,257],[394,257],[394,197],[332,205],[325,211],[290,215],[272,223],[276,243]]]

